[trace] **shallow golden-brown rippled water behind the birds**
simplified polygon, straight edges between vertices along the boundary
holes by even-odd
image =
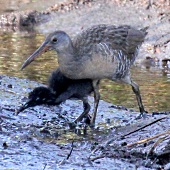
[[[20,71],[22,63],[43,40],[43,35],[35,33],[1,33],[0,74],[27,78],[46,84],[50,72],[57,67],[55,52],[43,54],[25,70]],[[140,85],[147,111],[170,111],[170,75],[167,69],[166,72],[162,71],[154,67],[149,70],[132,68],[132,78]],[[103,100],[138,111],[135,95],[129,85],[102,80],[100,87]]]

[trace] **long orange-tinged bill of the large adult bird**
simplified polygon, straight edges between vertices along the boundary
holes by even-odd
[[[46,41],[43,42],[42,45],[30,57],[27,58],[27,60],[22,65],[21,70],[23,70],[31,62],[33,62],[35,60],[35,58],[37,58],[42,53],[48,51],[49,49],[50,49],[50,46],[48,45],[48,42],[46,42]]]

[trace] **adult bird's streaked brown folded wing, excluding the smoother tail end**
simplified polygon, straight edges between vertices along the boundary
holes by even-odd
[[[74,40],[73,45],[76,48],[78,55],[82,56],[91,51],[96,51],[99,47],[104,51],[109,50],[122,50],[126,51],[127,48],[127,35],[128,26],[115,27],[108,25],[93,26],[81,34]]]

